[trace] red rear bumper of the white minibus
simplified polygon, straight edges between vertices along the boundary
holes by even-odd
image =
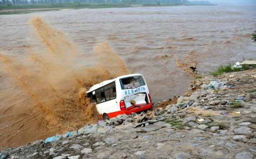
[[[120,111],[117,111],[117,112],[107,113],[107,115],[109,116],[109,118],[114,118],[118,115],[122,115],[122,114],[129,115],[131,113],[142,112],[143,110],[148,110],[148,109],[151,109],[151,108],[152,108],[152,103],[149,103],[149,104],[142,105],[142,106],[139,106],[139,107],[133,107],[129,110],[120,110]]]

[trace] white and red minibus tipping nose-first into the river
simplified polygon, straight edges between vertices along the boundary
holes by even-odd
[[[152,108],[149,88],[141,74],[128,74],[93,85],[86,92],[103,120]]]

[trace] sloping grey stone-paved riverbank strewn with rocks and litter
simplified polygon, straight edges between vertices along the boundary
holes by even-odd
[[[256,157],[255,69],[192,81],[189,91],[170,103],[48,139],[53,142],[6,149],[0,159]]]

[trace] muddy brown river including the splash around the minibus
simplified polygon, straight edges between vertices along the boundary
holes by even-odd
[[[153,101],[220,64],[256,58],[256,6],[80,9],[0,15],[0,149],[95,123],[95,83],[146,78]]]

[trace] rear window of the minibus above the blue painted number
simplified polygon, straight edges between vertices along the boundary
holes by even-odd
[[[137,88],[137,87],[146,85],[142,76],[131,76],[126,78],[121,78],[120,84],[121,84],[122,90]]]

